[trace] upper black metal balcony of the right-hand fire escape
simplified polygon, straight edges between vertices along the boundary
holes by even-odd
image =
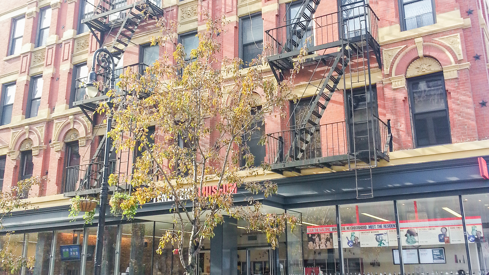
[[[323,55],[337,52],[338,47],[348,45],[356,54],[372,51],[380,64],[378,20],[368,4],[358,1],[343,5],[339,11],[331,14],[269,29],[265,31],[265,41],[271,46],[266,52],[267,61],[277,69],[290,69],[292,59],[304,46],[310,54],[331,49],[315,60],[308,60],[320,62]]]

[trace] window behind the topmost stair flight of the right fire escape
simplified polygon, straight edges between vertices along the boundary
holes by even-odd
[[[305,21],[303,18],[299,18],[299,13],[301,12],[302,8],[304,7],[302,1],[297,1],[297,2],[292,2],[289,5],[289,12],[287,13],[287,20],[288,20],[288,48],[289,51],[300,49],[304,46],[311,47],[313,46],[313,34],[312,34],[312,24],[314,23],[311,20]],[[304,10],[304,14],[307,15],[307,17],[311,18],[311,11],[309,9]],[[299,23],[300,24],[296,24]],[[306,30],[302,28],[302,26],[307,25]],[[306,40],[308,38],[311,38],[311,41],[309,41],[306,45]]]

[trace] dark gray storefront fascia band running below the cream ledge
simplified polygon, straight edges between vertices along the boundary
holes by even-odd
[[[488,156],[484,156],[484,158],[489,159]],[[277,195],[268,198],[260,195],[253,197],[260,200],[264,205],[287,210],[311,206],[338,207],[342,204],[358,202],[397,201],[443,196],[459,196],[459,200],[462,200],[461,195],[489,193],[489,180],[480,176],[476,157],[377,167],[372,170],[372,174],[374,198],[371,199],[356,199],[354,171],[276,179],[273,182],[278,185]],[[249,195],[246,190],[238,190],[238,194],[235,195],[235,204],[244,204]],[[172,202],[145,204],[142,208],[138,208],[136,218],[142,221],[145,216],[169,214],[172,210],[172,204]],[[27,233],[96,226],[96,223],[90,226],[84,225],[83,219],[70,222],[68,214],[69,206],[15,212],[3,219],[4,228],[2,231],[15,230],[16,233]],[[110,217],[109,213],[107,214],[107,225],[139,221],[137,219],[133,221],[121,220],[119,217]],[[462,215],[464,221],[463,209]],[[340,224],[339,219],[338,215],[338,225]],[[396,222],[398,222],[397,217]],[[464,233],[467,236],[465,230]],[[340,234],[338,234],[338,238],[340,238]],[[341,243],[339,242],[339,244]],[[468,248],[467,237],[466,248]],[[403,266],[401,265],[400,268],[401,274],[403,274]],[[469,272],[472,274],[470,265]],[[343,266],[341,266],[341,273],[344,273]]]

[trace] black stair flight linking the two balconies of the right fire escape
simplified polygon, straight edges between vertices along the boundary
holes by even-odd
[[[320,87],[316,86],[317,90],[315,96],[311,99],[308,112],[302,118],[301,123],[295,126],[294,140],[291,142],[289,153],[285,158],[286,160],[289,158],[292,158],[293,160],[303,159],[303,156],[311,143],[311,139],[314,137],[316,127],[319,126],[320,120],[326,111],[326,107],[333,96],[333,92],[336,90],[336,87],[341,80],[344,68],[349,62],[349,59],[344,56],[345,50],[345,47],[343,47],[342,51],[333,54],[332,59],[329,60],[331,65],[329,71],[326,70],[328,71],[328,74],[326,75],[325,71],[321,79],[322,85]],[[326,61],[323,60],[323,62]],[[309,85],[313,85],[311,84],[311,81]]]

